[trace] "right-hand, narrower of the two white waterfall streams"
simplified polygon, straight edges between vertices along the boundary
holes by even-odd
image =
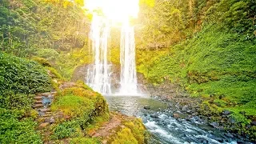
[[[120,94],[137,94],[134,26],[130,26],[129,22],[122,26],[120,47]]]

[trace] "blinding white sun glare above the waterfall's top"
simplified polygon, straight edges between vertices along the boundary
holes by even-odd
[[[138,0],[86,0],[85,4],[90,11],[102,10],[112,22],[126,22],[138,17]]]

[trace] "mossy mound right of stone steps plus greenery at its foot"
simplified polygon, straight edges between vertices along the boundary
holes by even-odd
[[[85,135],[91,126],[97,126],[100,122],[109,118],[109,109],[105,98],[82,82],[71,83],[69,88],[60,90],[55,96],[51,110],[62,111],[66,122],[60,122],[54,127],[54,139],[76,138]],[[83,142],[83,139],[77,139]]]

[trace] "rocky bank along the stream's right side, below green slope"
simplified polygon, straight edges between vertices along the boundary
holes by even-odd
[[[221,107],[218,102],[214,102],[214,98],[192,98],[181,86],[169,81],[154,86],[147,82],[142,74],[138,74],[138,82],[143,86],[142,90],[150,94],[152,98],[166,102],[167,110],[171,111],[174,118],[189,122],[196,118],[199,122],[206,123],[214,129],[225,131],[226,137],[250,139],[250,141],[256,142],[255,118],[251,118],[250,124],[243,126],[241,121],[234,118],[232,111]],[[149,106],[144,108],[150,109]],[[240,112],[240,114],[245,113]],[[156,118],[157,116],[153,114],[150,117]]]

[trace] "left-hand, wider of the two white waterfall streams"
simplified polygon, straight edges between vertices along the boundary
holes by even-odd
[[[94,64],[87,69],[86,83],[101,94],[111,94],[110,68],[107,61],[108,37],[110,26],[108,22],[97,14],[93,15],[91,23],[90,40],[94,55]]]

